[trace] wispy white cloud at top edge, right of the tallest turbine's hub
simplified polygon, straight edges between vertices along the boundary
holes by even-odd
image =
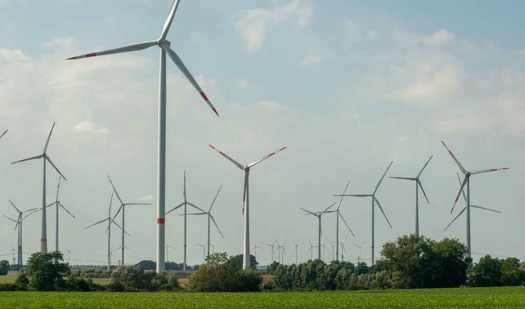
[[[262,46],[266,36],[268,24],[277,25],[296,19],[296,30],[306,27],[310,23],[312,8],[303,5],[299,0],[293,0],[286,5],[274,5],[268,10],[257,8],[249,10],[246,15],[237,22],[236,27],[244,39],[250,52]]]

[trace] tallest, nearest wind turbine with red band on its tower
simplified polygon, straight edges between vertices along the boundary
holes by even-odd
[[[186,68],[181,58],[170,48],[171,43],[166,40],[167,32],[170,30],[173,17],[177,11],[178,0],[175,0],[171,6],[170,13],[168,13],[161,35],[158,39],[150,40],[141,43],[135,43],[118,48],[103,50],[69,59],[79,59],[93,56],[102,56],[118,53],[133,52],[135,50],[142,50],[151,46],[160,47],[160,65],[159,65],[159,145],[158,145],[158,180],[157,180],[157,273],[164,270],[164,232],[165,232],[165,193],[166,193],[166,53],[173,60],[182,74],[190,81],[193,87],[197,90],[199,95],[206,101],[208,106],[215,112],[217,110],[213,107],[212,102],[208,100],[204,91],[197,84],[190,71]]]

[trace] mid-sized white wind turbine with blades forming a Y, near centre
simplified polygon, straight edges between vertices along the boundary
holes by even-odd
[[[209,145],[209,147],[212,147],[215,149],[218,153],[222,154],[226,159],[232,161],[238,168],[241,170],[244,170],[244,189],[243,189],[243,214],[244,214],[244,250],[243,250],[243,270],[249,269],[250,266],[250,220],[249,220],[249,194],[248,194],[248,177],[250,174],[250,168],[253,167],[255,164],[261,162],[262,160],[268,159],[269,157],[273,156],[277,152],[286,149],[286,147],[283,147],[281,149],[278,149],[267,156],[264,156],[260,158],[257,161],[251,162],[247,165],[240,164],[239,162],[235,161],[234,159],[227,156],[226,153],[216,149],[212,145]]]

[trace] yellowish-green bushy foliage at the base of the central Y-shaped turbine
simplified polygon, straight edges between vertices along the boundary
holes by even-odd
[[[242,264],[241,264],[242,265]],[[236,257],[214,253],[190,276],[190,289],[197,292],[260,291],[262,278],[253,270],[239,270]]]

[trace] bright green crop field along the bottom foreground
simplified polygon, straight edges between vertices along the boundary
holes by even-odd
[[[268,293],[0,292],[2,308],[522,308],[525,286]]]

